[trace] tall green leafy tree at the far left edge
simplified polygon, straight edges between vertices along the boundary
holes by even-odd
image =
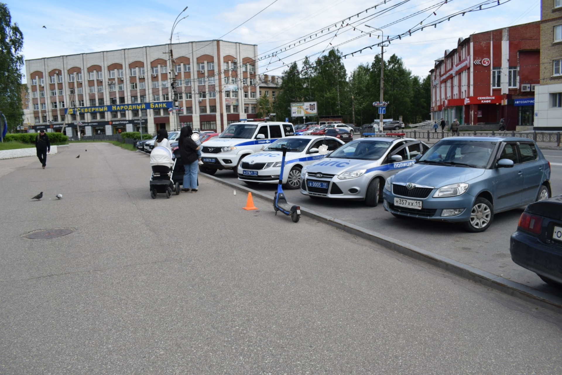
[[[0,3],[0,112],[6,116],[8,128],[15,129],[23,121],[21,107],[21,48],[24,36],[17,24],[12,24],[10,10]]]

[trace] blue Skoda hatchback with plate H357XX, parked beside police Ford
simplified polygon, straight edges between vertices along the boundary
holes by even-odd
[[[550,195],[550,163],[531,139],[449,137],[387,180],[383,204],[395,216],[483,232],[495,213]]]

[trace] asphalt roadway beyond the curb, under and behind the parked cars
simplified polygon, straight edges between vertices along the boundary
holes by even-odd
[[[551,163],[552,193],[560,195],[562,194],[562,151],[542,150],[542,152]],[[217,171],[214,176],[246,186],[230,170]],[[275,184],[246,187],[269,193],[271,197],[277,191]],[[385,211],[382,205],[366,207],[362,202],[312,199],[302,195],[298,189],[284,189],[284,192],[291,204],[307,207],[536,290],[562,297],[562,290],[549,286],[535,273],[516,265],[511,260],[509,237],[517,228],[523,208],[496,214],[492,226],[485,232],[468,233],[455,224],[398,219]]]

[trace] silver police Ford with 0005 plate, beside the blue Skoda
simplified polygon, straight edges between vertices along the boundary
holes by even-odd
[[[428,150],[427,144],[411,138],[372,137],[351,141],[302,170],[301,193],[365,201],[368,206],[382,202],[386,179],[415,162]]]

